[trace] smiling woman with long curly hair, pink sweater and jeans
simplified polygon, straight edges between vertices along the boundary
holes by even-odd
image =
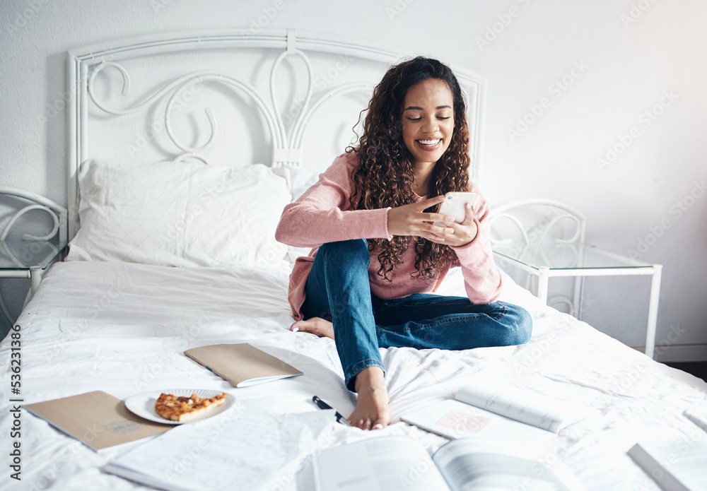
[[[388,70],[358,143],[285,207],[276,238],[313,248],[290,276],[290,329],[334,339],[346,387],[358,393],[349,422],[369,430],[390,423],[378,348],[515,345],[532,321],[495,302],[489,205],[469,182],[466,109],[448,66],[417,57]],[[436,213],[449,191],[477,193],[462,223]],[[433,295],[452,266],[467,297]]]

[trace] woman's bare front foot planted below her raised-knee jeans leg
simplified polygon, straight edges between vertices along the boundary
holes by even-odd
[[[390,425],[388,389],[380,367],[368,367],[356,375],[355,389],[358,392],[356,409],[349,416],[351,426],[361,430],[380,430]]]

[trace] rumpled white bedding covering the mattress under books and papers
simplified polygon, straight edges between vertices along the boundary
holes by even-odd
[[[626,455],[638,439],[691,438],[701,430],[682,412],[704,401],[707,384],[653,362],[587,324],[544,307],[504,276],[501,300],[526,307],[534,319],[530,343],[466,351],[382,350],[394,424],[381,432],[337,425],[330,444],[375,434],[407,434],[432,451],[445,442],[399,416],[445,398],[466,381],[511,377],[551,396],[597,408],[593,418],[562,430],[548,463],[563,461],[590,490],[654,489]],[[454,292],[452,273],[442,292]],[[176,386],[221,389],[247,409],[317,410],[316,394],[344,415],[354,395],[334,342],[291,333],[288,272],[231,268],[168,268],[119,262],[69,261],[47,271],[18,319],[24,403],[103,390],[127,398]],[[3,390],[9,386],[10,339],[0,345]],[[182,352],[210,343],[248,342],[303,372],[293,379],[235,389]],[[8,397],[0,427],[12,418]],[[21,489],[125,490],[140,487],[100,471],[130,445],[97,454],[30,413],[22,414]],[[6,430],[4,430],[6,431]],[[134,445],[134,444],[132,444]],[[4,452],[3,461],[8,461]],[[7,465],[4,466],[7,470]],[[8,481],[7,476],[0,487]],[[35,486],[35,487],[33,487]],[[297,489],[287,483],[286,489]],[[20,489],[20,487],[18,487]]]

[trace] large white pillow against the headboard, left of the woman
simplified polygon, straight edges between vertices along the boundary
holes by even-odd
[[[286,267],[275,228],[291,194],[264,165],[90,160],[78,186],[67,260]]]

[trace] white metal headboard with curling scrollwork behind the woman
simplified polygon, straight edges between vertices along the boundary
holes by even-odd
[[[164,32],[72,49],[69,238],[78,227],[77,175],[86,160],[197,158],[323,170],[354,140],[351,129],[382,73],[411,56],[293,29]],[[486,82],[452,69],[467,96],[478,173]]]

